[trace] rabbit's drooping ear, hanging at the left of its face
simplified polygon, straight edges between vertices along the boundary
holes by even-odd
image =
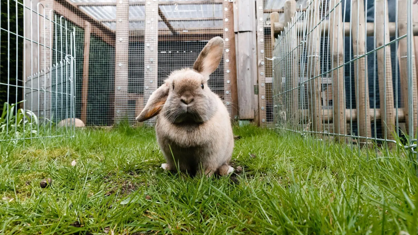
[[[168,85],[164,83],[151,94],[147,104],[138,117],[136,117],[136,120],[143,122],[157,115],[166,103],[167,97]]]

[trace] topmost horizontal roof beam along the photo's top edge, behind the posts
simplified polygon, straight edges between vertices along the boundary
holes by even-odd
[[[143,6],[146,1],[132,1],[130,6]],[[208,4],[222,4],[222,0],[197,0],[197,1],[161,1],[158,5],[208,5]],[[97,7],[97,6],[116,6],[116,1],[106,2],[92,2],[92,3],[74,3],[79,7]]]

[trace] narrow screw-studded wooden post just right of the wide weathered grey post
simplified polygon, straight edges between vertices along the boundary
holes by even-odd
[[[264,19],[263,0],[256,0],[257,20],[257,77],[258,77],[258,115],[260,126],[267,124],[266,92],[265,92],[265,51],[264,51]]]

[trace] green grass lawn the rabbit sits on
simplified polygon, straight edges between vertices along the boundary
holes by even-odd
[[[2,142],[0,231],[417,234],[418,178],[408,152],[367,157],[252,126],[234,133],[238,183],[163,171],[153,129],[89,128],[24,147]],[[52,184],[41,188],[45,178]]]

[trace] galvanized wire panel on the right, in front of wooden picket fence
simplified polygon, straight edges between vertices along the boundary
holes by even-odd
[[[273,51],[275,128],[412,145],[417,12],[412,0],[313,0],[296,10]]]

